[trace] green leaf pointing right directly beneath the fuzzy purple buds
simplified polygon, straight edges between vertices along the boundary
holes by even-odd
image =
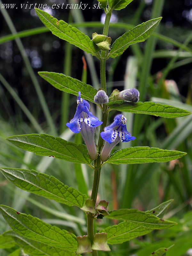
[[[123,100],[110,101],[108,104],[110,110],[118,110],[122,112],[131,112],[136,114],[147,114],[153,116],[162,116],[168,118],[175,118],[181,116],[190,115],[191,112],[182,109],[176,108],[169,105],[163,105],[154,102],[138,102],[138,103],[130,103],[125,102]]]

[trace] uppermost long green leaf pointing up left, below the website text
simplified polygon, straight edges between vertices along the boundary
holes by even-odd
[[[36,13],[44,25],[51,30],[53,35],[58,36],[70,44],[74,44],[87,53],[97,55],[96,53],[99,51],[98,46],[92,42],[89,36],[86,36],[79,29],[72,27],[63,20],[53,18],[49,13],[42,10],[36,9]]]

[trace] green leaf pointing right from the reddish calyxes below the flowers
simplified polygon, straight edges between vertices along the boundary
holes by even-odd
[[[105,217],[109,219],[129,221],[139,226],[152,229],[170,228],[177,224],[176,222],[162,220],[153,214],[141,212],[136,209],[120,209],[110,211],[109,216]]]

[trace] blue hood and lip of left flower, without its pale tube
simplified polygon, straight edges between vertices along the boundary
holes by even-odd
[[[82,123],[84,122],[89,127],[95,128],[100,126],[103,122],[99,121],[99,119],[89,111],[90,105],[86,100],[81,98],[81,92],[78,92],[79,96],[77,98],[77,109],[75,116],[73,119],[67,123],[67,127],[75,133],[81,131]]]

